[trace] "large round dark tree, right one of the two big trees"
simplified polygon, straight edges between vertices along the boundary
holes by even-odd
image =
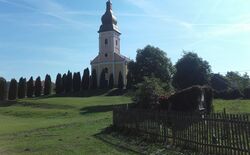
[[[177,89],[184,89],[193,85],[206,85],[210,81],[211,69],[207,61],[198,57],[196,53],[184,52],[175,65],[176,73],[173,85]]]

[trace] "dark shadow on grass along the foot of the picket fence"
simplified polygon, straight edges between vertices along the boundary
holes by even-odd
[[[94,137],[96,139],[101,140],[104,143],[107,143],[108,145],[111,145],[112,147],[116,148],[118,151],[126,151],[126,152],[131,152],[134,154],[143,154],[137,150],[129,148],[126,145],[120,144],[119,141],[123,141],[123,138],[112,135],[112,133],[113,133],[113,128],[108,127],[106,129],[102,130],[100,133],[95,134]]]

